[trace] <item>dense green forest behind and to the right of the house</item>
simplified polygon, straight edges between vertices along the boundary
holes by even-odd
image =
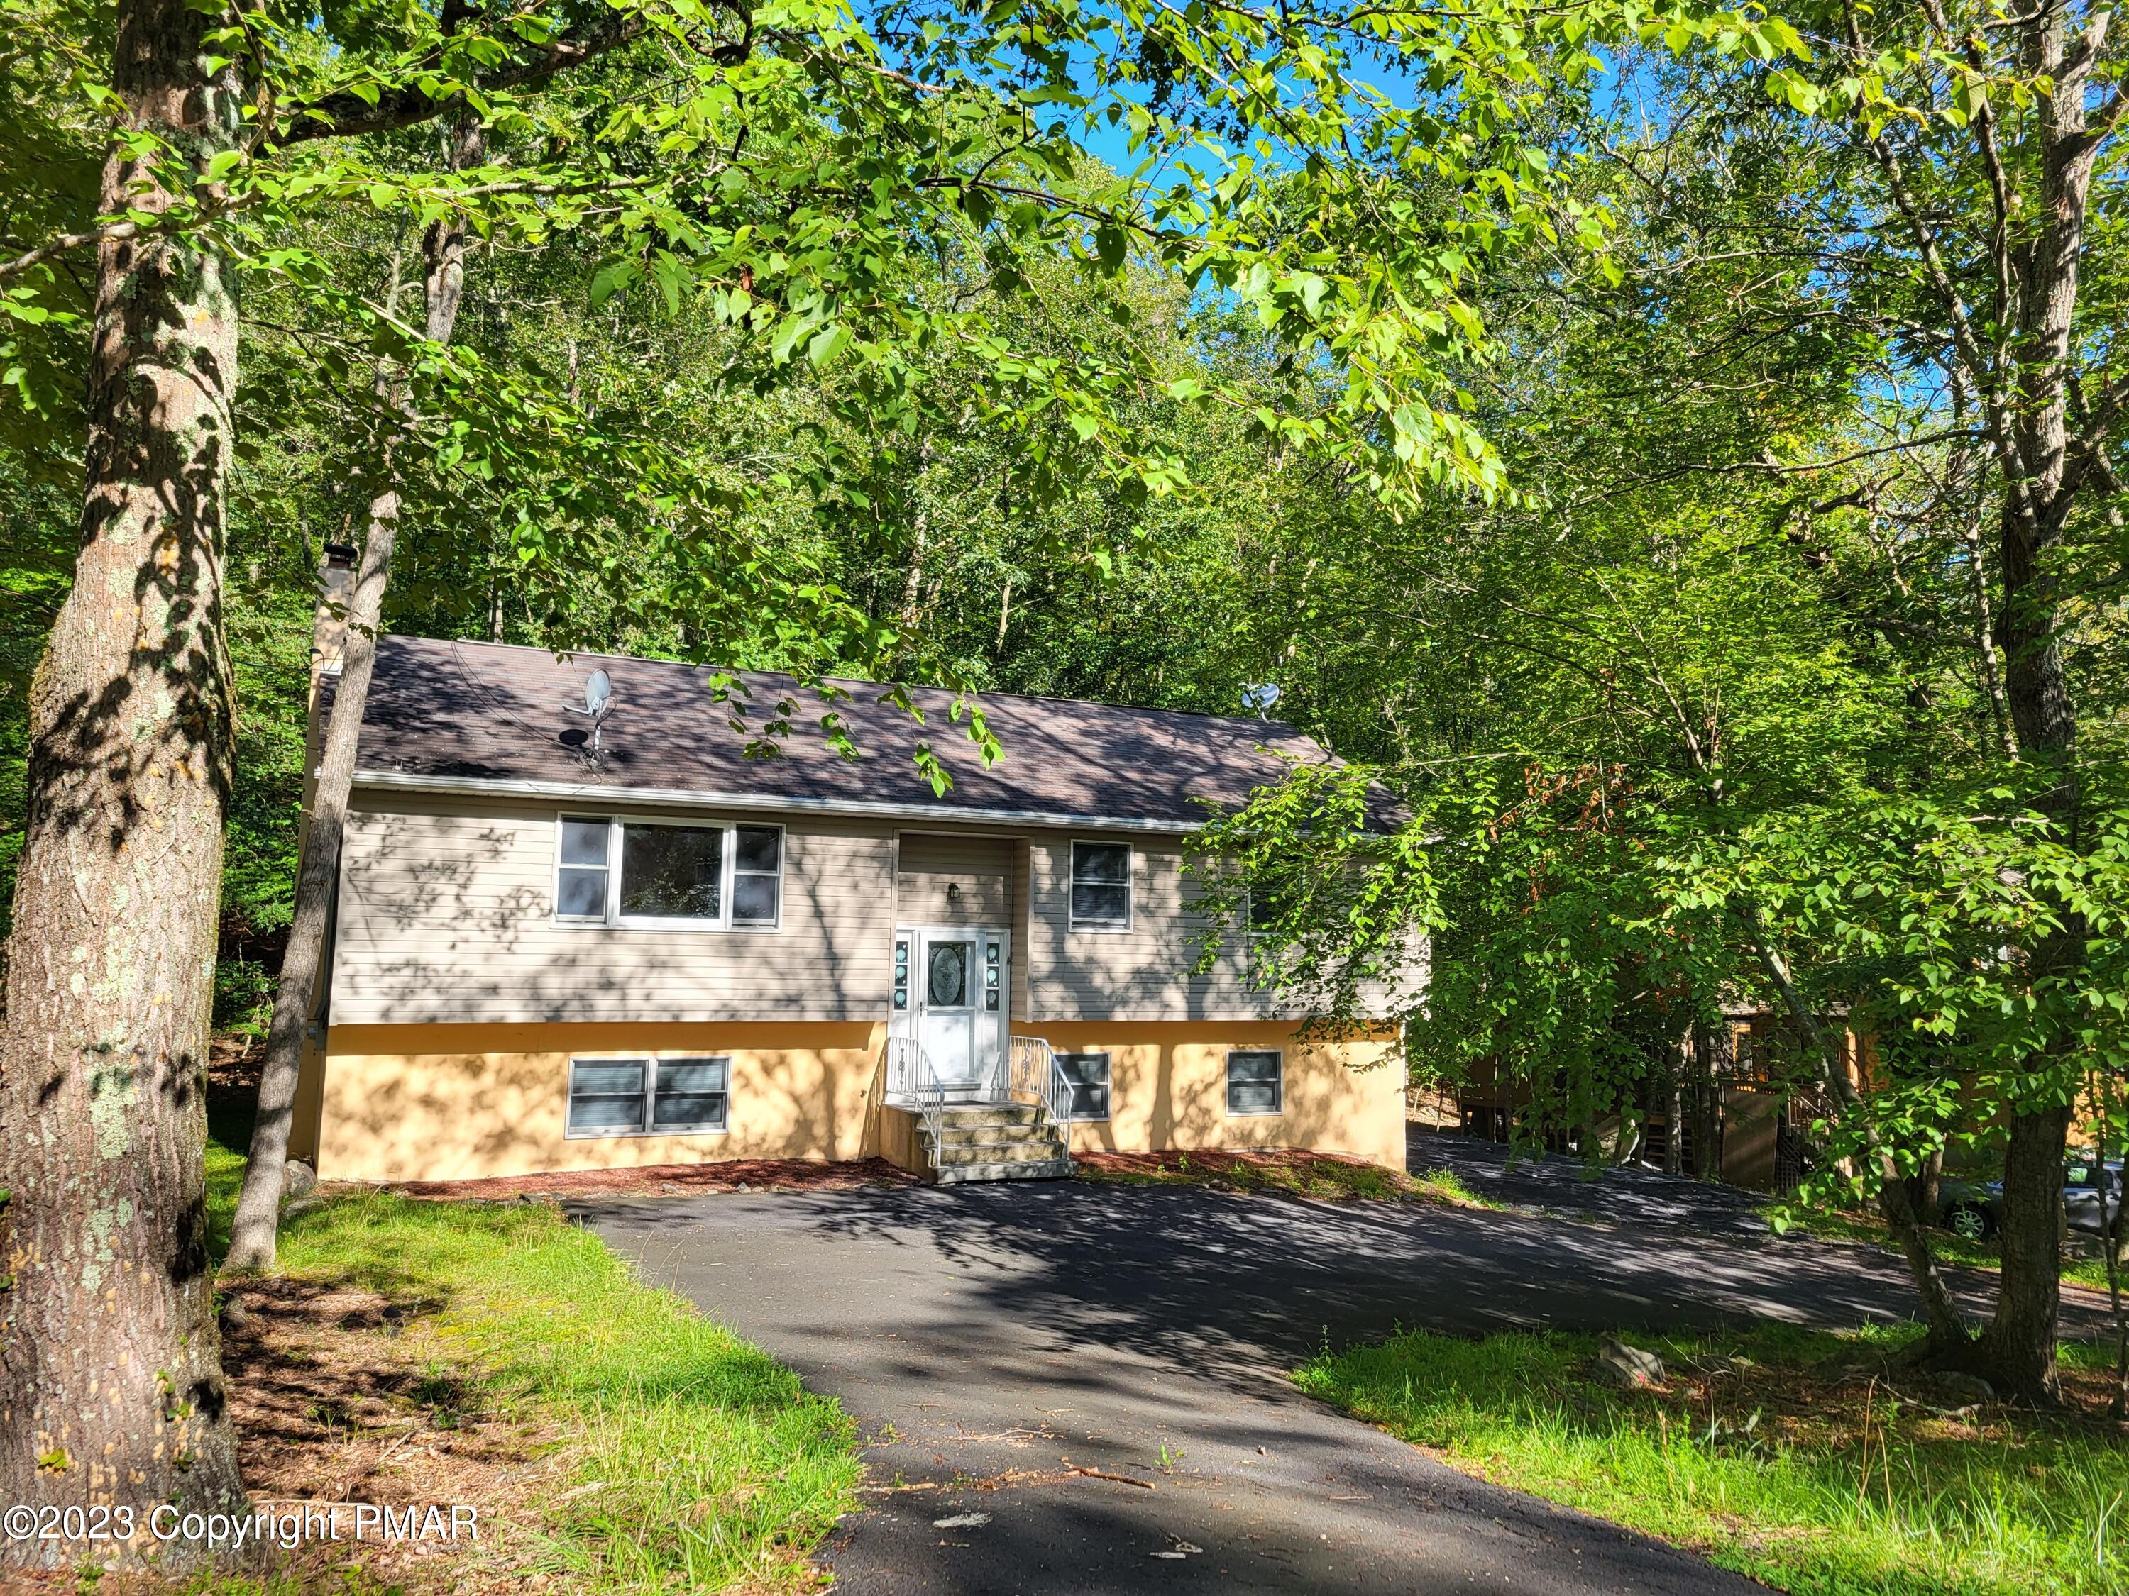
[[[1207,866],[1214,907],[1239,917],[1254,894],[1286,949],[1277,975],[1333,1019],[1429,930],[1412,1066],[1501,1064],[1539,1121],[1644,1100],[1695,1026],[1742,1000],[1839,1011],[1882,1041],[1882,1090],[1827,1132],[1829,1151],[1871,1158],[1825,1196],[1999,1141],[2001,1109],[2035,1094],[2065,1113],[2080,1092],[2103,1104],[2129,992],[2120,47],[2084,64],[2108,136],[2069,370],[2054,366],[2078,492],[2020,555],[2040,566],[2014,572],[2018,598],[1997,526],[2020,489],[1984,411],[2016,389],[2014,300],[2040,281],[2027,230],[2044,204],[2012,200],[2054,181],[2048,94],[2023,45],[1946,64],[1984,36],[1982,11],[1944,26],[1929,6],[1891,11],[1871,21],[1878,89],[1920,111],[1878,121],[1856,113],[1867,96],[1839,100],[1869,55],[1861,36],[1846,57],[1827,43],[1856,15],[1805,13],[1797,55],[1627,30],[1603,70],[1563,68],[1516,102],[1516,138],[1544,166],[1429,311],[1450,328],[1435,411],[1414,423],[1431,443],[1403,411],[1352,426],[1352,351],[1305,334],[1324,279],[1179,281],[1111,228],[1018,260],[1011,292],[930,247],[875,270],[911,304],[986,302],[1016,360],[1128,372],[1096,423],[1062,400],[1001,415],[994,362],[954,340],[918,343],[903,394],[884,396],[847,332],[811,323],[794,345],[783,323],[764,349],[732,285],[666,272],[658,251],[617,270],[585,230],[477,226],[451,347],[479,392],[424,389],[441,419],[409,447],[377,396],[402,349],[422,204],[351,187],[304,238],[302,272],[273,270],[275,238],[249,240],[215,1024],[264,1017],[292,913],[317,551],[360,534],[396,445],[392,630],[1216,713],[1277,687],[1275,713],[1390,783],[1414,824],[1384,849],[1333,824],[1356,813],[1352,781],[1299,775],[1214,836],[1243,866]],[[892,38],[901,15],[875,32]],[[2048,15],[2072,38],[2089,21]],[[102,130],[49,92],[66,79],[51,36],[0,51],[0,132],[38,153],[0,174],[11,240],[96,213]],[[1544,43],[1539,77],[1546,51],[1580,60],[1575,40]],[[1130,94],[1158,106],[1158,45],[1145,66]],[[571,94],[598,89],[556,92],[541,115],[585,115]],[[1976,132],[1991,126],[1999,140]],[[387,136],[400,170],[451,168],[447,132]],[[1096,138],[1077,164],[1045,157],[1041,181],[1101,194],[1109,147],[1130,160]],[[1392,230],[1446,251],[1469,226],[1471,196],[1446,174],[1399,168],[1390,189]],[[85,396],[68,372],[85,368],[89,292],[64,255],[11,281],[9,900],[28,675],[77,547]],[[1959,309],[1991,300],[1995,364]],[[509,406],[492,398],[505,389]],[[502,438],[483,415],[568,423]],[[722,506],[709,560],[656,492],[598,498],[543,466],[609,449],[626,470],[630,440]],[[1386,492],[1399,462],[1443,458]],[[2014,677],[2042,647],[2076,738],[2037,755]]]

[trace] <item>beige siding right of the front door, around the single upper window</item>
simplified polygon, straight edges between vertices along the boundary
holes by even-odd
[[[1028,843],[1026,1019],[1275,1019],[1269,994],[1250,992],[1243,947],[1228,936],[1205,975],[1192,975],[1203,915],[1190,909],[1196,883],[1184,881],[1182,845],[1128,841],[1130,928],[1071,928],[1071,838]]]

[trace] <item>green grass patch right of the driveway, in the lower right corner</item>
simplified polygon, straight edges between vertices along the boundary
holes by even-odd
[[[1592,1377],[1595,1336],[1409,1332],[1324,1353],[1297,1381],[1471,1473],[1780,1590],[2125,1590],[2123,1439],[2084,1417],[1948,1417],[1895,1362],[1910,1334],[1633,1334],[1667,1383],[1622,1392]],[[2099,1362],[2065,1356],[2074,1373]]]

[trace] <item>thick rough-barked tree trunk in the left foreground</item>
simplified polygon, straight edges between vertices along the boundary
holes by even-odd
[[[183,0],[123,0],[113,87],[196,168],[238,85]],[[160,213],[145,162],[104,211]],[[96,257],[75,585],[30,687],[30,787],[0,1043],[11,1192],[0,1496],[130,1511],[132,1539],[0,1539],[17,1566],[185,1568],[149,1513],[243,1509],[207,1256],[207,1030],[230,787],[221,641],[234,266],[211,238]]]

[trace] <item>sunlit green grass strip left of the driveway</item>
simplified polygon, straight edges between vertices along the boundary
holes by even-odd
[[[211,1145],[217,1245],[241,1175],[243,1158]],[[643,1285],[554,1204],[328,1198],[283,1221],[279,1273],[419,1302],[409,1324],[471,1400],[554,1436],[558,1466],[532,1470],[545,1483],[517,1517],[530,1566],[564,1590],[811,1587],[805,1553],[856,1507],[837,1402]]]

